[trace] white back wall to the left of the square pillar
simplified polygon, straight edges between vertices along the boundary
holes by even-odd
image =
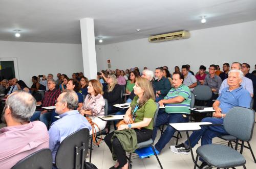
[[[0,41],[0,58],[17,58],[19,80],[29,87],[32,76],[83,72],[81,44]]]

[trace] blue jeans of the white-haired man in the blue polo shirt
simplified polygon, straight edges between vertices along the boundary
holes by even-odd
[[[223,124],[223,120],[223,118],[206,117],[203,118],[201,122]],[[222,134],[228,134],[223,126],[201,126],[201,130],[194,131],[189,137],[191,147],[195,147],[201,137],[201,146],[203,146],[205,144],[211,144],[212,138],[218,137]],[[189,145],[188,140],[185,141],[185,144]]]

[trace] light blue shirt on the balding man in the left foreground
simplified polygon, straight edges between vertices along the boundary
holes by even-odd
[[[86,117],[79,114],[77,110],[60,114],[59,117],[60,119],[54,122],[48,131],[50,136],[49,149],[52,152],[53,163],[55,163],[55,156],[63,139],[80,129],[87,128],[89,131],[92,129]]]

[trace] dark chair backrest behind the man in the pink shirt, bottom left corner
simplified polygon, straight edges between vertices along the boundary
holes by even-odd
[[[52,152],[50,149],[41,149],[17,162],[12,169],[24,168],[52,168]]]

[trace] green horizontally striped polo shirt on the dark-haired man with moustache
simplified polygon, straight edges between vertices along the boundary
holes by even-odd
[[[168,94],[164,97],[165,100],[173,99],[177,96],[182,96],[185,100],[181,103],[169,103],[165,104],[165,112],[166,113],[186,113],[190,114],[190,102],[191,102],[191,92],[187,86],[184,84],[180,85],[180,87],[172,88],[168,92]]]

